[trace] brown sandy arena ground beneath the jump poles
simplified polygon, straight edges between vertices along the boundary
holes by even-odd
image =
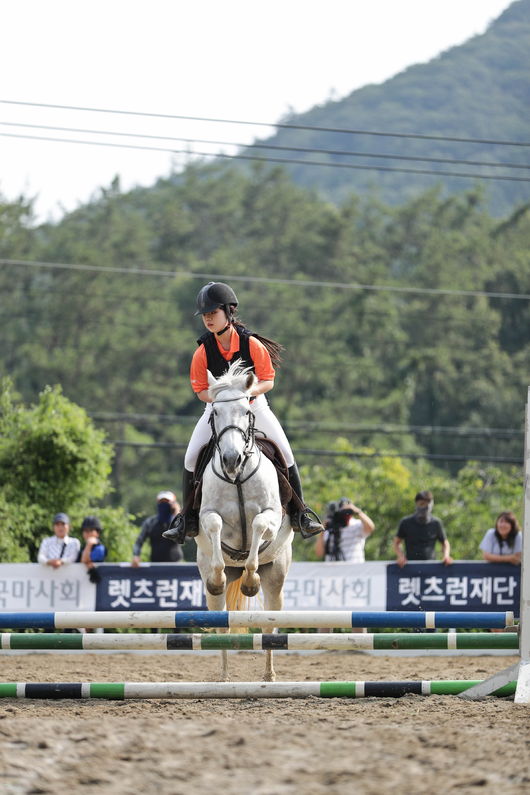
[[[279,680],[483,679],[512,657],[277,654]],[[232,679],[263,657],[230,654]],[[212,681],[217,655],[25,654],[2,681]],[[509,699],[0,702],[0,792],[527,793],[530,706]]]

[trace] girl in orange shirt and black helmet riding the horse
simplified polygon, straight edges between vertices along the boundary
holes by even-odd
[[[265,393],[274,386],[274,365],[280,361],[281,346],[273,340],[248,331],[236,318],[237,305],[236,294],[231,287],[222,282],[209,282],[197,295],[195,314],[202,315],[207,331],[197,340],[199,347],[193,355],[190,378],[193,391],[199,400],[206,403],[206,407],[191,435],[184,457],[182,504],[189,505],[199,451],[208,443],[211,436],[209,419],[212,406],[208,396],[207,370],[219,378],[226,372],[231,362],[240,359],[241,365],[252,368],[258,379],[252,389],[250,401],[250,407],[256,417],[256,428],[276,442],[280,448],[289,470],[291,488],[305,505],[300,474],[291,445],[265,397]],[[304,536],[315,535],[323,530],[318,517],[309,508],[302,511],[293,510],[291,521],[293,529],[301,530]],[[195,536],[198,532],[197,511],[188,508],[177,514],[163,535],[165,538],[183,543],[186,536]]]

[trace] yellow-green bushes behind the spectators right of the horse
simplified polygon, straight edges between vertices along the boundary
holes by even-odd
[[[440,473],[426,462],[413,463],[399,457],[366,458],[347,455],[352,448],[346,439],[334,443],[337,453],[324,466],[302,468],[308,502],[325,514],[328,502],[347,496],[374,520],[376,529],[366,545],[368,560],[393,560],[392,539],[399,520],[414,511],[414,496],[429,489],[434,494],[434,513],[447,530],[451,554],[457,560],[482,558],[479,544],[501,511],[511,510],[521,518],[523,484],[519,467],[501,469],[469,462],[456,477]],[[332,484],[332,485],[330,485]],[[295,539],[295,557],[313,558],[310,542]]]

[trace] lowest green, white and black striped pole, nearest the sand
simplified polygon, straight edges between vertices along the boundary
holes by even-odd
[[[418,682],[7,682],[0,698],[399,698],[458,695],[476,680]],[[510,696],[515,682],[492,695]]]

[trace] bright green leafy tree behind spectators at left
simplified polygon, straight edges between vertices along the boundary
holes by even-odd
[[[0,520],[3,560],[35,559],[51,518],[66,511],[73,526],[99,513],[111,556],[129,556],[134,527],[122,509],[100,509],[110,491],[113,450],[105,434],[59,387],[25,407],[8,379],[0,382]]]

